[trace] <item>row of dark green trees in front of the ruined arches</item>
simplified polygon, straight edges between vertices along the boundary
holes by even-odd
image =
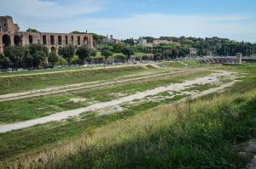
[[[125,55],[126,60],[134,54],[133,49],[126,46],[120,50]],[[65,59],[67,65],[70,66],[73,64],[75,56],[79,59],[76,64],[84,65],[85,61],[90,62],[91,57],[95,58],[97,52],[97,50],[87,46],[77,47],[73,45],[60,48],[58,54],[55,51],[49,52],[43,44],[9,46],[3,49],[3,54],[0,54],[0,69],[54,67],[60,59]],[[108,57],[113,55],[113,48],[106,45],[99,52],[104,56],[104,63],[106,64]]]

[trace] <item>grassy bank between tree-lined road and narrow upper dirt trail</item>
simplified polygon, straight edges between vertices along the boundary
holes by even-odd
[[[30,76],[0,77],[0,94],[17,93],[33,89],[52,86],[63,86],[80,82],[94,82],[111,80],[119,76],[127,76],[138,72],[149,71],[143,66],[113,67],[97,70],[78,70],[58,72],[53,74],[40,74]]]

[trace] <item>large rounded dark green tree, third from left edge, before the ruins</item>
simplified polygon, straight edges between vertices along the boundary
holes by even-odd
[[[32,61],[34,66],[38,65],[48,57],[48,48],[43,44],[31,44],[29,46],[30,54],[32,56]]]

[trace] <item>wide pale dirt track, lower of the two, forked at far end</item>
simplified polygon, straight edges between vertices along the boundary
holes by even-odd
[[[132,95],[125,96],[125,97],[119,98],[119,99],[113,99],[113,100],[108,101],[108,102],[92,104],[92,105],[90,105],[88,107],[85,107],[85,108],[80,108],[80,109],[76,109],[76,110],[62,111],[60,113],[55,113],[53,115],[48,115],[48,116],[44,116],[44,117],[41,117],[41,118],[38,118],[38,119],[29,120],[29,121],[21,121],[21,122],[15,122],[15,123],[12,123],[12,124],[0,125],[0,133],[10,132],[10,131],[13,131],[13,130],[18,130],[18,129],[22,129],[22,128],[26,128],[26,127],[32,127],[32,126],[35,126],[35,125],[38,125],[38,124],[44,124],[44,123],[47,123],[47,122],[50,122],[50,121],[65,120],[65,119],[67,119],[69,117],[72,117],[72,116],[81,115],[84,112],[101,110],[101,109],[104,109],[104,108],[108,108],[110,106],[118,106],[119,104],[129,103],[129,102],[137,100],[137,99],[144,99],[147,96],[154,96],[156,94],[167,92],[167,91],[176,91],[176,92],[178,92],[178,91],[181,91],[185,88],[191,87],[192,85],[204,85],[204,84],[210,84],[212,82],[218,82],[218,77],[220,77],[220,76],[231,76],[231,75],[232,75],[232,72],[227,72],[227,71],[213,73],[210,76],[198,77],[195,80],[186,81],[186,82],[183,82],[183,83],[174,83],[174,84],[171,84],[167,87],[156,87],[156,88],[151,89],[151,90],[147,90],[147,91],[144,91],[144,92],[132,94]],[[192,96],[192,99],[195,99],[196,97],[206,95],[208,93],[218,92],[218,90],[221,90],[225,87],[230,87],[233,84],[234,84],[234,82],[226,83],[226,84],[224,84],[220,87],[212,88],[210,90],[201,92],[197,95],[195,94],[194,96]]]

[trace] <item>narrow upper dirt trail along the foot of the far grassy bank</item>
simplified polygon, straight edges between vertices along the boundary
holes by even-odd
[[[120,80],[120,81],[115,81],[115,82],[105,82],[105,83],[100,83],[100,84],[88,85],[88,84],[96,83],[96,82],[84,82],[84,83],[66,85],[66,86],[62,86],[62,87],[49,87],[49,88],[33,90],[33,91],[28,91],[28,92],[22,92],[22,93],[9,93],[9,94],[0,95],[0,102],[17,100],[17,99],[33,98],[33,97],[44,96],[44,95],[53,94],[53,93],[65,93],[65,92],[81,90],[81,89],[107,87],[109,85],[121,84],[121,83],[125,83],[125,82],[136,82],[136,81],[140,81],[143,79],[156,78],[156,77],[160,77],[160,76],[170,76],[170,75],[175,75],[175,74],[183,74],[186,72],[202,71],[202,70],[207,70],[207,69],[197,68],[197,69],[192,69],[192,70],[181,70],[181,71],[168,72],[168,73],[162,73],[162,74],[151,75],[151,76],[142,76],[142,77]]]

